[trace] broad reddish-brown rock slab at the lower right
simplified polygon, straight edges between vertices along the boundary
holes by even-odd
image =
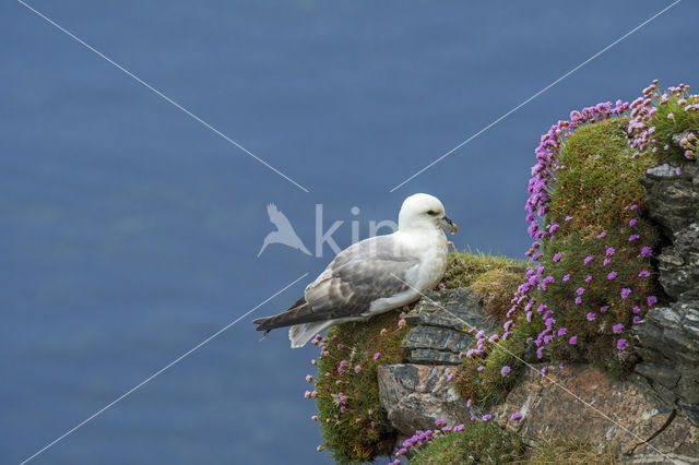
[[[493,412],[494,419],[530,438],[555,439],[574,433],[593,443],[608,444],[618,453],[660,450],[699,457],[699,429],[684,418],[675,417],[652,440],[652,446],[642,443],[663,427],[674,408],[655,405],[643,384],[639,386],[632,379],[614,380],[584,365],[549,370],[547,375],[545,379],[536,369],[522,372],[506,402]],[[576,397],[594,408],[580,408]],[[512,420],[516,412],[521,418]]]

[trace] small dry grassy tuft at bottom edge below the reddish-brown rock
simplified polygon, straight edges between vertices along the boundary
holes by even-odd
[[[557,438],[538,442],[523,464],[601,464],[617,465],[618,460],[612,448],[597,445],[579,438]]]

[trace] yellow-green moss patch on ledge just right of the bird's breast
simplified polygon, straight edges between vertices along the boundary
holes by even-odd
[[[523,274],[525,264],[501,254],[491,255],[479,250],[473,253],[471,248],[463,252],[452,251],[449,253],[449,264],[441,282],[449,289],[467,287],[473,285],[484,273],[493,270]]]

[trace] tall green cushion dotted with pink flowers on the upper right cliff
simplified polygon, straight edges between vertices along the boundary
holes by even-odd
[[[657,162],[631,156],[627,123],[608,119],[567,138],[558,160],[565,169],[552,183],[545,216],[558,228],[541,241],[540,263],[552,281],[536,298],[555,310],[557,331],[566,330],[549,345],[557,358],[594,362],[616,375],[635,362],[617,341],[648,308],[650,250],[657,241],[655,228],[639,214],[644,196],[639,179]]]

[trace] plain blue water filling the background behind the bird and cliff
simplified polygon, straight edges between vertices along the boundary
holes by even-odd
[[[699,87],[689,0],[471,143],[425,165],[670,2],[48,1],[34,8],[298,183],[282,179],[21,3],[0,5],[0,463],[19,463],[224,327],[296,300],[332,258],[315,205],[394,219],[429,192],[467,245],[522,258],[541,133],[652,79]],[[359,206],[353,216],[351,207]],[[315,347],[234,325],[37,464],[328,463],[303,398]]]

